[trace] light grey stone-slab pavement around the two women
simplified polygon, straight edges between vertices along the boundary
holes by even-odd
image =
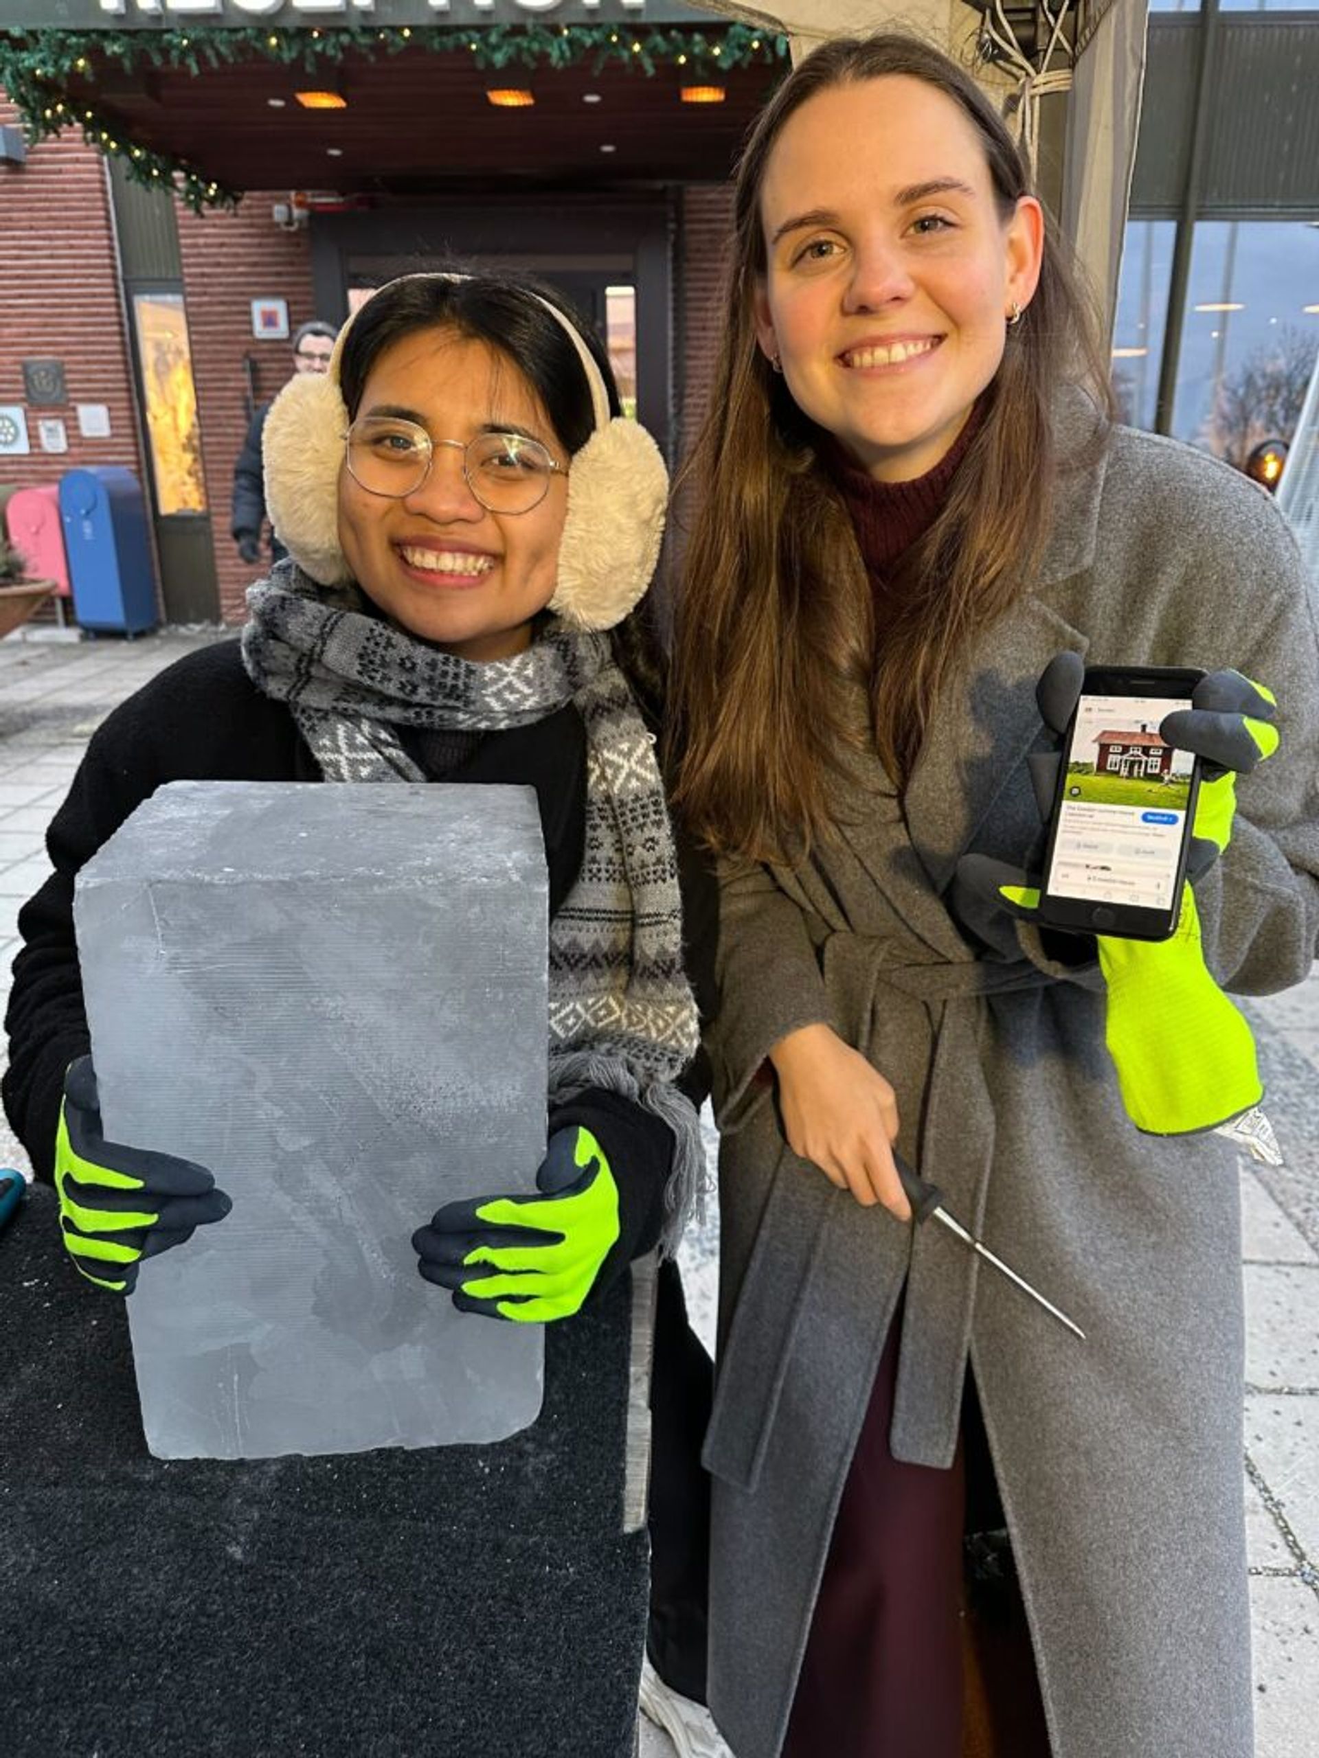
[[[16,916],[47,872],[42,835],[88,737],[134,689],[220,631],[0,640],[0,995]],[[1319,976],[1250,1002],[1286,1167],[1242,1162],[1245,1204],[1245,1494],[1254,1607],[1256,1758],[1312,1758],[1319,1705]],[[0,1044],[0,1057],[4,1046]],[[0,1166],[28,1171],[0,1118]],[[688,1301],[714,1320],[714,1204],[686,1246]],[[642,1728],[642,1758],[672,1758]],[[1150,1754],[1155,1758],[1155,1754]]]

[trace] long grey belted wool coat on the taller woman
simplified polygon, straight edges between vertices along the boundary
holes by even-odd
[[[967,1366],[1011,1528],[1055,1758],[1250,1758],[1240,1215],[1231,1146],[1127,1120],[1094,963],[1006,923],[985,948],[950,888],[976,849],[1039,840],[1036,679],[1092,665],[1236,666],[1282,745],[1238,784],[1198,886],[1210,969],[1268,993],[1319,932],[1319,647],[1266,494],[1201,454],[1068,404],[1034,587],[937,703],[902,802],[858,759],[841,837],[730,870],[712,1030],[723,1287],[711,1707],[776,1758],[830,1529],[906,1280],[899,1459],[948,1466]],[[784,1144],[769,1048],[823,1020],[893,1085],[899,1146],[948,1206],[1071,1313],[1078,1341],[944,1229],[865,1210]],[[1196,1021],[1187,1020],[1189,1032]],[[846,1758],[846,1754],[839,1754]]]

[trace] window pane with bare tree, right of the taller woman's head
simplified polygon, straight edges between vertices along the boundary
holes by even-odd
[[[1319,353],[1319,227],[1201,220],[1177,364],[1173,432],[1245,466],[1296,429]]]

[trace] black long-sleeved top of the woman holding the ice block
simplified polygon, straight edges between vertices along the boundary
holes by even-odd
[[[408,745],[426,761],[415,738],[408,737]],[[535,786],[554,914],[577,879],[586,835],[586,731],[577,710],[559,708],[533,726],[484,735],[445,779]],[[93,735],[47,832],[55,872],[19,912],[25,946],[14,962],[4,1076],[5,1111],[39,1178],[51,1176],[65,1069],[90,1050],[74,879],[169,781],[320,781],[292,714],[257,691],[237,642],[179,659],[121,703]],[[593,1130],[619,1187],[621,1234],[601,1266],[600,1292],[660,1238],[674,1143],[649,1111],[594,1088],[550,1115],[550,1129],[566,1123]],[[417,1217],[419,1225],[426,1220]]]

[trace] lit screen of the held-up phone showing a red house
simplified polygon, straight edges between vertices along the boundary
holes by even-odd
[[[1171,911],[1194,756],[1159,738],[1191,698],[1082,696],[1045,890]]]

